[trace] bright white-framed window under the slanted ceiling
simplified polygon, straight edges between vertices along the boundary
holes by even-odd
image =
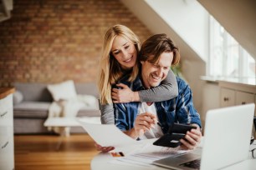
[[[210,77],[247,78],[255,81],[255,59],[212,16],[208,61],[207,74]]]

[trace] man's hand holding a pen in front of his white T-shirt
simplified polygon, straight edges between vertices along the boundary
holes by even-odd
[[[146,133],[146,131],[154,128],[156,122],[156,115],[151,114],[150,112],[141,113],[136,117],[134,128],[125,132],[125,134],[129,135],[131,138],[141,137],[144,133]]]

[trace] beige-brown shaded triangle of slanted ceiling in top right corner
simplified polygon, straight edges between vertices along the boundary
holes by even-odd
[[[197,0],[256,59],[255,0]]]

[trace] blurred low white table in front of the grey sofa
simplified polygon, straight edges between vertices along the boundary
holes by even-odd
[[[100,124],[100,117],[49,117],[44,122],[44,127],[80,127],[82,122],[90,122]],[[59,150],[59,147],[64,139],[65,132],[64,130],[60,132],[59,143],[57,144],[56,150]]]

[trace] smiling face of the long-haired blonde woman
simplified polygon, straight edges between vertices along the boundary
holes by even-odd
[[[125,37],[115,37],[111,52],[123,69],[131,69],[136,65],[136,46]]]

